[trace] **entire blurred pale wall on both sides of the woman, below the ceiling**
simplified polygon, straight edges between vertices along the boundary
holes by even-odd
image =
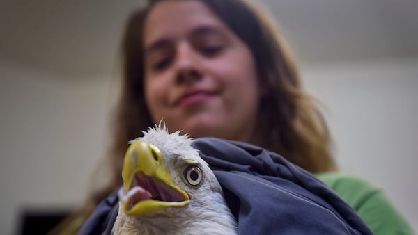
[[[357,60],[302,67],[302,75],[327,108],[343,170],[380,186],[418,231],[417,65]],[[14,234],[23,208],[84,200],[109,144],[117,82],[56,79],[5,62],[0,78],[0,234]]]

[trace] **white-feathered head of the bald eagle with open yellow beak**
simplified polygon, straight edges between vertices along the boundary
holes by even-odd
[[[113,234],[236,234],[222,188],[192,139],[164,125],[132,140]]]

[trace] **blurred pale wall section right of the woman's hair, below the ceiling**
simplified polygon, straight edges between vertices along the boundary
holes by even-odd
[[[327,108],[341,168],[380,186],[418,231],[418,59],[327,63],[302,74]]]

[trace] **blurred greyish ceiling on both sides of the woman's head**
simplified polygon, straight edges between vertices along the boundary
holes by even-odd
[[[62,77],[114,71],[139,0],[0,0],[0,60]],[[304,63],[418,57],[418,0],[263,0]]]

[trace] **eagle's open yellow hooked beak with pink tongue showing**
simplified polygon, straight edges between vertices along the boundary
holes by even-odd
[[[153,216],[189,204],[189,195],[174,184],[162,163],[162,152],[154,145],[134,141],[127,149],[121,203],[128,216]]]

